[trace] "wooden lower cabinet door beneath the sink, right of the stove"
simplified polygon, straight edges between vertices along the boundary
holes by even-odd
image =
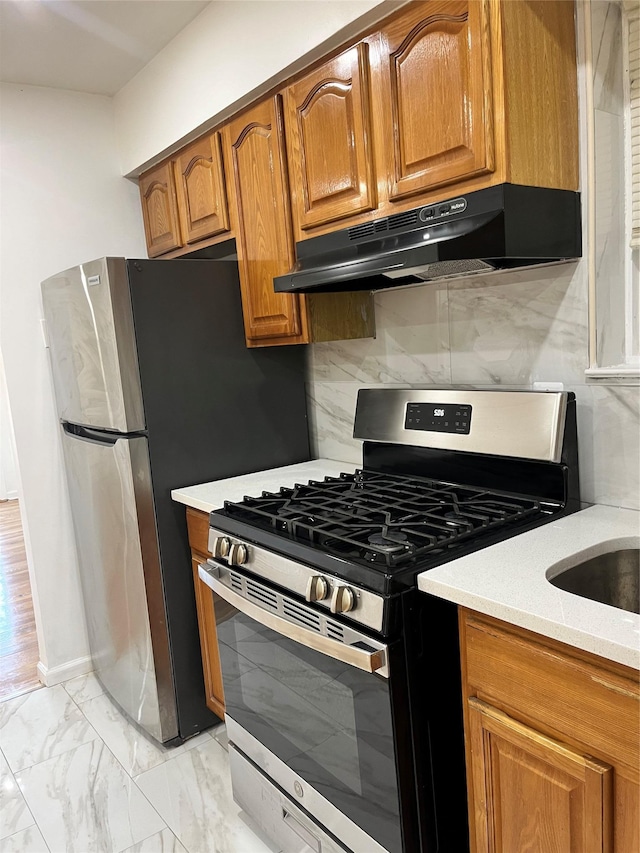
[[[469,699],[476,853],[610,853],[613,772]]]

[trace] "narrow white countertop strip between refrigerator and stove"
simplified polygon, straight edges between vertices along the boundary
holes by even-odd
[[[350,462],[338,462],[335,459],[312,459],[297,465],[285,465],[283,468],[270,468],[255,474],[242,474],[240,477],[228,477],[226,480],[213,480],[198,486],[184,486],[173,489],[171,497],[178,503],[193,509],[211,512],[219,509],[225,501],[241,501],[255,497],[262,492],[277,492],[280,488],[291,488],[296,484],[305,484],[309,480],[324,480],[325,477],[337,477],[338,474],[353,474],[356,465]]]

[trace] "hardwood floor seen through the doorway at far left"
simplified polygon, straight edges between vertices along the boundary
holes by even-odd
[[[41,687],[18,501],[0,502],[0,700]]]

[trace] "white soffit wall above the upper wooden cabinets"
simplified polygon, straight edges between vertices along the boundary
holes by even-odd
[[[161,153],[321,56],[325,42],[339,44],[397,5],[214,0],[115,96],[122,173],[139,174]]]

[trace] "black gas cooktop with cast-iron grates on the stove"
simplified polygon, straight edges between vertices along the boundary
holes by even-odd
[[[358,469],[227,501],[212,513],[211,524],[379,588],[376,573],[413,578],[546,521],[558,509],[503,491]]]

